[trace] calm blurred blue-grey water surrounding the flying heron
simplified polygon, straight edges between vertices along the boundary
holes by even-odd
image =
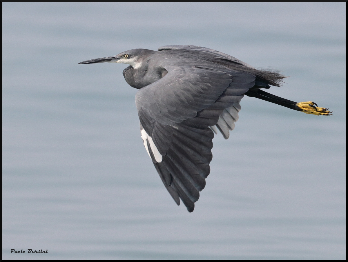
[[[3,3],[3,259],[345,259],[345,3]],[[216,135],[195,211],[139,130],[133,48],[198,45],[283,70]],[[48,249],[15,254],[10,249]]]

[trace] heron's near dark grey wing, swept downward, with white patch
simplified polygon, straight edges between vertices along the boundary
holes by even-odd
[[[168,192],[192,212],[210,172],[213,126],[228,138],[255,76],[223,67],[166,70],[165,77],[136,94],[141,135]]]

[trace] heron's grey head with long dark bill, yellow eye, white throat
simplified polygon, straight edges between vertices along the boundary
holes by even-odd
[[[102,58],[91,59],[80,62],[81,64],[95,64],[95,63],[122,63],[132,65],[133,68],[140,68],[140,66],[147,61],[147,56],[155,53],[156,51],[149,49],[131,49],[124,51],[115,56],[108,56]]]

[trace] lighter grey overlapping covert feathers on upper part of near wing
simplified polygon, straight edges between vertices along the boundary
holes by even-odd
[[[166,70],[165,77],[141,88],[135,97],[140,122],[150,136],[155,121],[173,125],[195,117],[232,82],[231,74],[208,68],[169,66]]]

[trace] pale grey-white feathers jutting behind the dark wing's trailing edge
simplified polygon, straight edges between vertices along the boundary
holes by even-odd
[[[230,137],[230,130],[235,128],[235,122],[238,120],[238,112],[240,111],[239,101],[234,102],[229,108],[223,110],[219,116],[216,126],[210,128],[217,134],[216,127],[220,130],[225,139]]]

